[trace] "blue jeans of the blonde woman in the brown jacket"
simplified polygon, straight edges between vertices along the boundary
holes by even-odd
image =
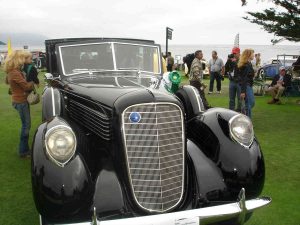
[[[29,130],[31,126],[30,109],[29,104],[27,102],[13,103],[12,105],[18,111],[22,123],[19,143],[19,155],[22,156],[30,153],[28,144]]]

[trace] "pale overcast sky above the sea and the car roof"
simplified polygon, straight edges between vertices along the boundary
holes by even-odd
[[[32,32],[49,38],[128,37],[169,44],[269,45],[272,34],[242,19],[262,11],[268,0],[0,0],[1,33]],[[295,44],[284,41],[281,44]]]

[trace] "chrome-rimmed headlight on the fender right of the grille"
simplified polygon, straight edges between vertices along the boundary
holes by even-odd
[[[230,136],[242,146],[249,148],[254,139],[253,125],[249,117],[238,114],[229,120]]]

